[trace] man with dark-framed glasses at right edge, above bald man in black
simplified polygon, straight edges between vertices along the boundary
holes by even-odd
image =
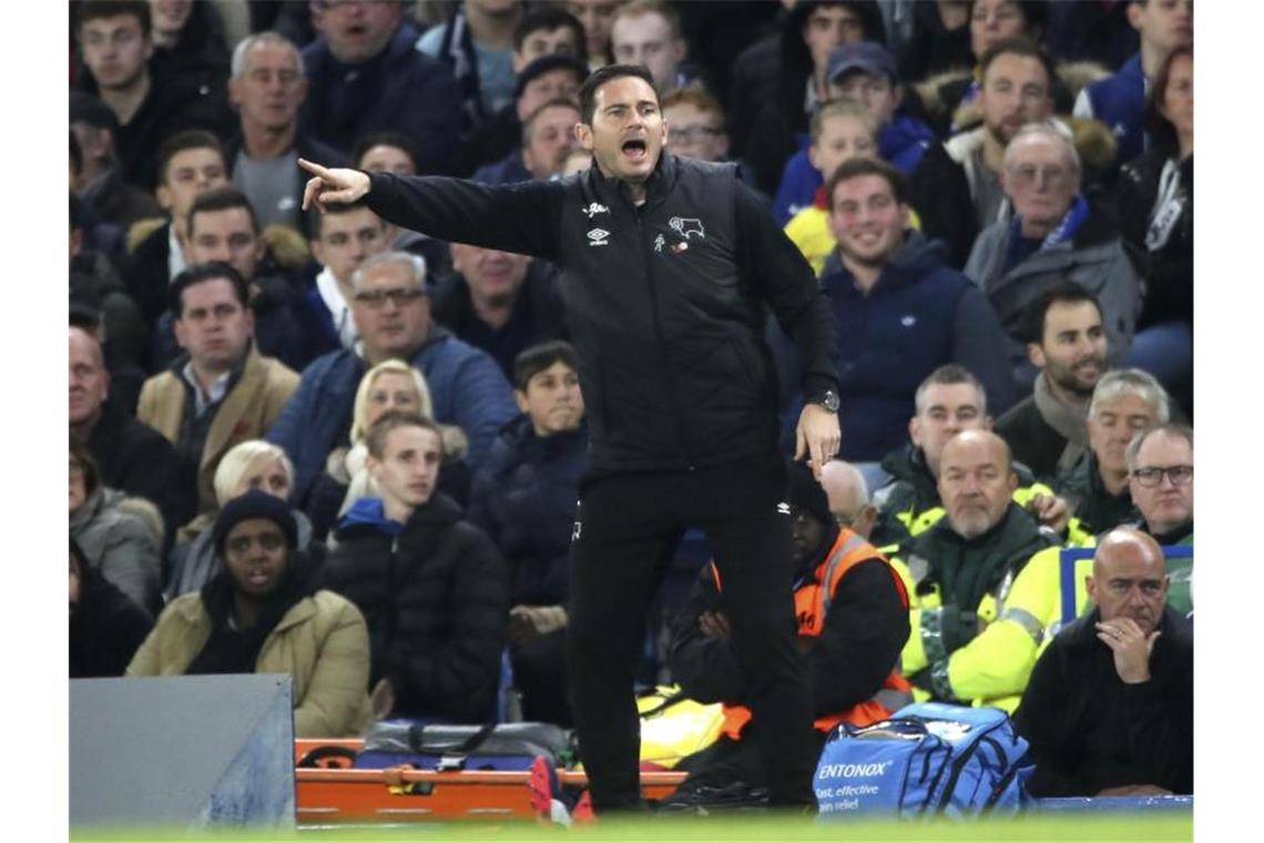
[[[1141,513],[1135,526],[1163,546],[1193,545],[1193,431],[1164,423],[1138,434],[1127,446],[1127,488]],[[1168,559],[1168,604],[1193,610],[1193,557]]]

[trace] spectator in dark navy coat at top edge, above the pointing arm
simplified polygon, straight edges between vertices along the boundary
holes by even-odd
[[[343,154],[368,131],[417,144],[423,173],[449,173],[465,131],[461,91],[442,62],[415,49],[401,3],[313,3],[320,38],[303,49],[307,99],[300,130]]]

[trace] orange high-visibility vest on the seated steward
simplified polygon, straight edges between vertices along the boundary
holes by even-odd
[[[829,603],[834,599],[834,593],[838,590],[838,583],[852,566],[871,559],[881,560],[887,566],[887,570],[891,573],[891,580],[895,583],[895,589],[900,594],[900,602],[904,603],[905,609],[909,608],[909,593],[904,588],[904,581],[886,561],[886,557],[873,545],[851,530],[842,527],[838,531],[834,546],[829,549],[829,555],[817,566],[814,579],[795,589],[794,614],[800,636],[815,638],[820,634],[820,631],[825,628],[825,616],[829,613]],[[719,570],[715,567],[715,562],[712,562],[710,567],[715,588],[719,589]],[[909,685],[908,680],[892,670],[882,681],[882,688],[871,699],[857,703],[843,712],[818,717],[813,720],[813,725],[822,732],[829,732],[843,720],[847,720],[852,725],[877,723],[891,717],[894,709],[911,703],[911,690],[913,686]],[[724,724],[720,727],[720,731],[737,741],[750,719],[751,709],[744,705],[724,704]]]

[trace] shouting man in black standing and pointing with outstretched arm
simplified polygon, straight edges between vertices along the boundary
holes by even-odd
[[[576,135],[595,166],[560,182],[487,187],[372,177],[301,162],[305,203],[367,196],[384,219],[562,268],[566,322],[592,431],[571,543],[570,665],[593,805],[640,804],[633,667],[666,561],[702,527],[774,805],[813,805],[815,753],[795,650],[790,519],[777,455],[765,305],[800,346],[798,456],[838,450],[834,329],[811,269],[732,166],[660,157],[667,135],[648,72],[609,66],[580,90]],[[780,504],[780,506],[779,506]]]

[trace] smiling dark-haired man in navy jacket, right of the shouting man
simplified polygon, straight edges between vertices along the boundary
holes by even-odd
[[[999,409],[1014,387],[1006,340],[983,293],[951,269],[947,249],[908,231],[908,182],[872,158],[844,162],[825,186],[838,252],[820,286],[838,320],[842,459],[870,488],[877,461],[902,445],[918,384],[945,363],[973,372]]]

